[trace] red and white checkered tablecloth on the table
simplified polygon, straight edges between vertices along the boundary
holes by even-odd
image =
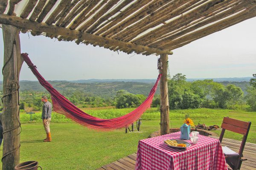
[[[180,139],[180,132],[140,140],[136,170],[227,170],[218,139],[199,135],[197,144],[186,150],[164,144],[166,139]]]

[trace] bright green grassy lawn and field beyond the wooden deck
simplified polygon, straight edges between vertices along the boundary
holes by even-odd
[[[121,116],[133,109],[88,110],[93,116],[112,118]],[[189,114],[195,124],[221,125],[224,116],[251,121],[252,126],[247,142],[256,143],[256,112],[217,110],[217,109],[188,109],[170,111],[170,127],[180,127],[183,119]],[[95,170],[124,156],[137,151],[140,139],[160,129],[160,112],[151,108],[143,114],[141,132],[126,133],[125,129],[110,132],[99,132],[87,129],[59,114],[53,114],[51,123],[52,142],[42,142],[45,138],[41,115],[30,116],[21,113],[22,122],[20,162],[37,160],[44,170]],[[215,131],[220,133],[220,131]],[[235,133],[225,133],[230,139],[241,140],[242,136]],[[0,147],[2,154],[2,146]],[[1,167],[1,165],[0,165]]]

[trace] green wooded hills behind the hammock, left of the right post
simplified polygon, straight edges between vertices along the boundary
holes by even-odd
[[[125,90],[132,94],[143,94],[148,96],[154,83],[144,82],[93,82],[77,83],[68,81],[49,81],[49,83],[60,93],[68,91],[83,91],[103,98],[116,96],[116,91]],[[20,81],[20,91],[46,91],[38,81]],[[0,91],[3,89],[3,82],[0,82]],[[160,94],[160,88],[156,94]]]

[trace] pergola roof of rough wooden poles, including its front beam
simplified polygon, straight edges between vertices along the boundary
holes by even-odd
[[[170,50],[256,17],[256,0],[20,1],[0,1],[0,24],[23,33],[31,30],[34,36],[146,56],[172,54]]]

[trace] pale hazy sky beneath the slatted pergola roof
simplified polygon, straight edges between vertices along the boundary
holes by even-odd
[[[173,50],[173,55],[169,55],[169,74],[182,73],[186,78],[252,77],[256,74],[255,30],[256,17]],[[47,80],[156,79],[158,75],[155,55],[117,53],[27,33],[20,33],[20,43],[21,52],[29,54]],[[0,57],[2,68],[2,34]],[[20,80],[36,80],[25,62]]]

